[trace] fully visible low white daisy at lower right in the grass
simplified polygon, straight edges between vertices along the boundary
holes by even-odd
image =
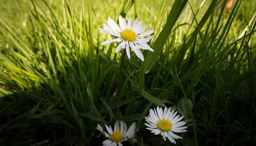
[[[174,113],[174,110],[171,112],[171,108],[167,110],[167,107],[162,108],[157,107],[156,109],[150,109],[150,113],[148,117],[145,117],[145,120],[148,123],[145,123],[148,126],[148,130],[152,133],[161,134],[164,140],[166,137],[172,142],[176,144],[174,139],[182,139],[182,137],[174,134],[173,132],[186,132],[187,127],[182,127],[186,124],[184,121],[180,121],[183,116],[179,117],[177,112]]]

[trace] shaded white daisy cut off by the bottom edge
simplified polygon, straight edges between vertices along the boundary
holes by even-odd
[[[108,139],[102,142],[103,146],[119,145],[122,146],[123,141],[127,141],[127,138],[131,139],[135,133],[135,122],[127,130],[126,123],[122,120],[116,121],[114,131],[111,126],[105,124],[107,132],[103,131],[102,127],[98,124],[97,129],[104,134]]]

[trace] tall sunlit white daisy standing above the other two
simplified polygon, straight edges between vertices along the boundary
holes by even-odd
[[[140,22],[138,22],[138,19],[139,18],[137,17],[135,19],[134,24],[132,25],[131,18],[129,18],[128,21],[126,22],[126,20],[120,15],[118,18],[118,21],[120,24],[120,27],[119,27],[113,19],[108,18],[107,20],[108,25],[103,24],[103,28],[100,28],[99,32],[111,34],[115,38],[111,40],[106,40],[103,43],[101,43],[101,45],[111,44],[116,41],[120,43],[116,48],[116,51],[115,51],[116,53],[119,52],[121,48],[123,48],[126,50],[126,54],[130,59],[131,58],[130,47],[131,47],[133,52],[142,61],[144,61],[144,56],[140,49],[150,50],[154,52],[154,50],[147,44],[154,35],[147,38],[143,38],[143,37],[154,33],[154,30],[149,30],[147,32],[142,33],[143,31],[146,30],[147,26],[142,28],[141,24],[143,21],[141,20]]]

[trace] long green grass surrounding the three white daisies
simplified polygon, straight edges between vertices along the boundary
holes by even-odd
[[[177,145],[256,144],[255,1],[0,2],[1,145],[101,145],[97,123],[115,120],[136,122],[134,145],[171,145],[144,125],[163,104],[185,116]],[[121,74],[99,33],[119,14],[155,30]]]

